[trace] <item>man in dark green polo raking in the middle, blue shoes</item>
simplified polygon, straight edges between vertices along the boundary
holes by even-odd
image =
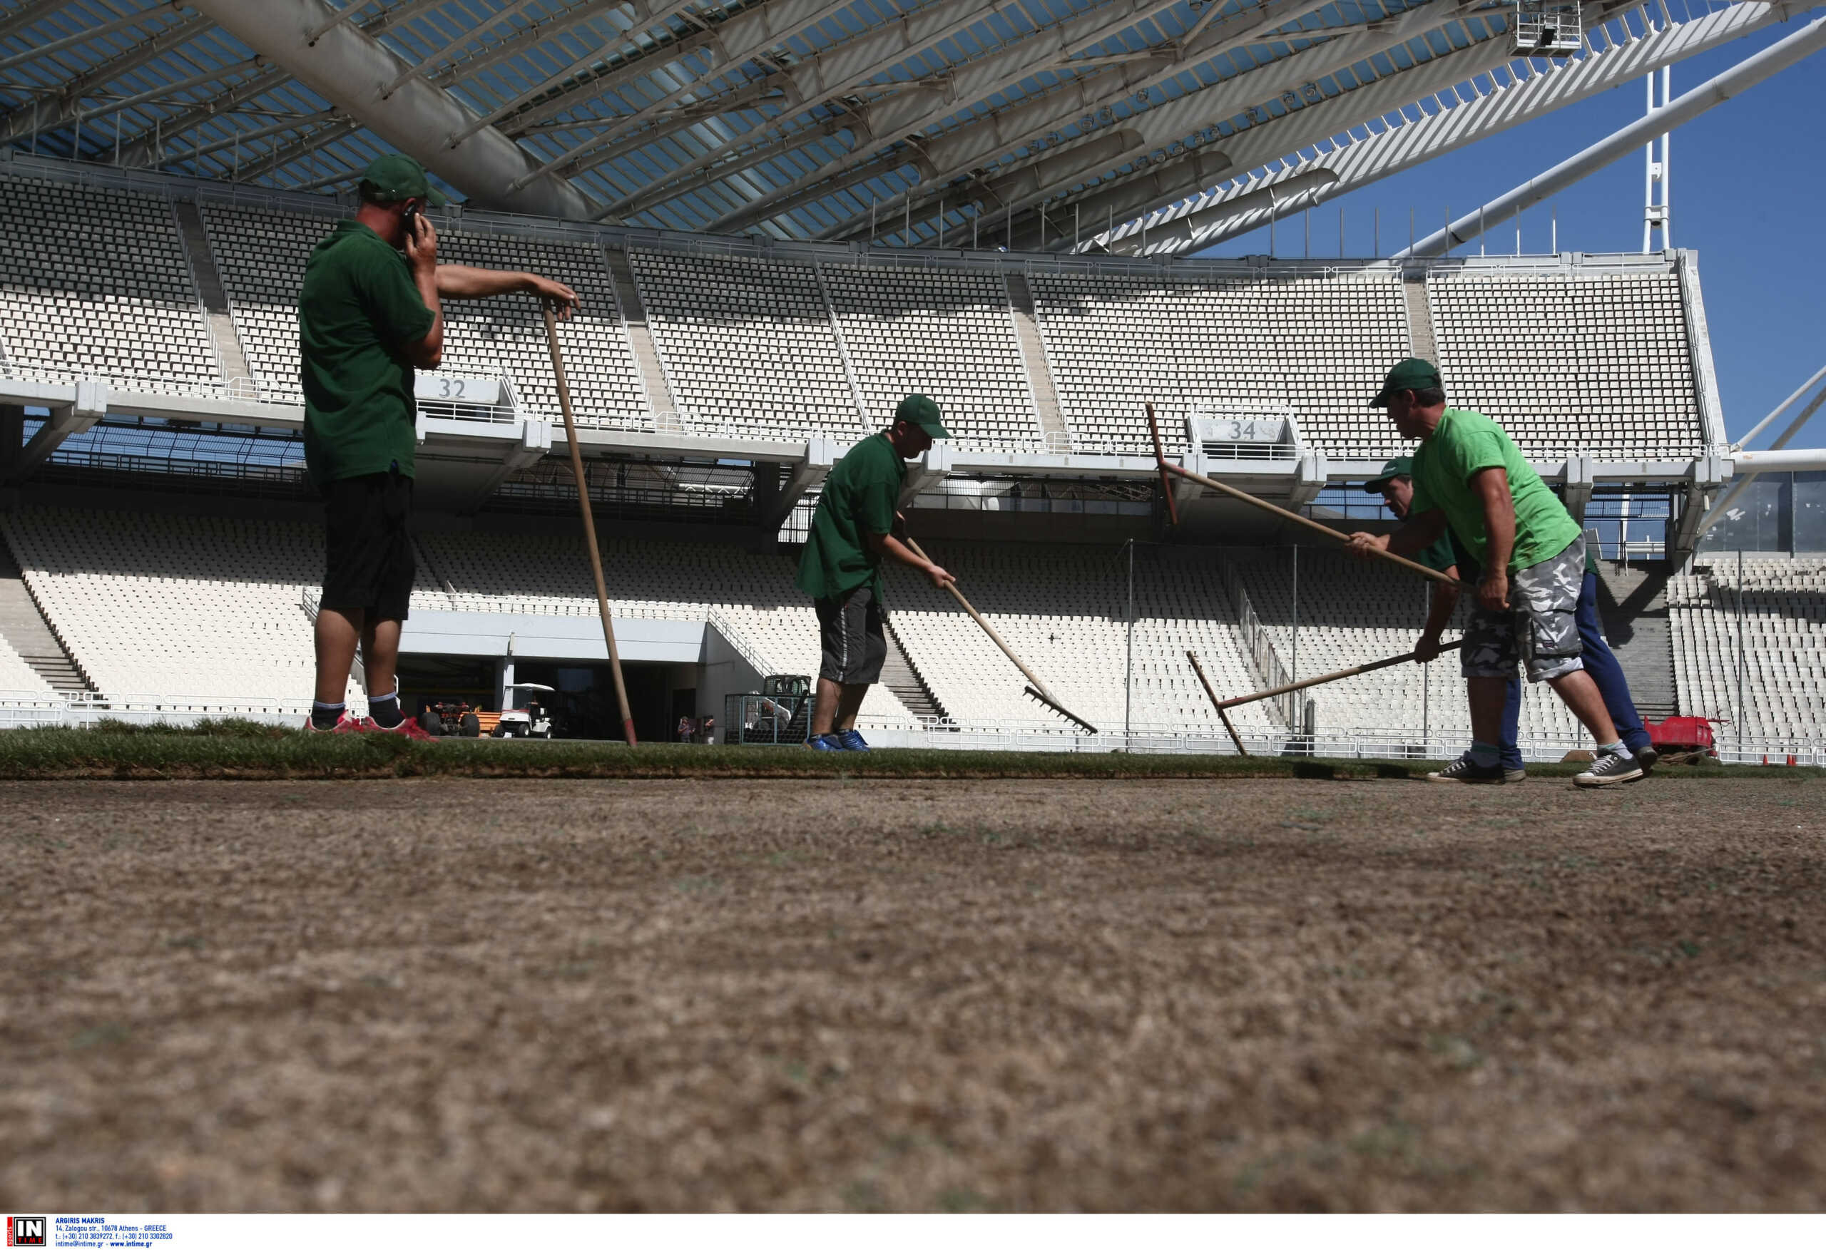
[[[798,575],[798,588],[818,609],[824,651],[805,743],[813,750],[869,750],[856,732],[856,712],[887,657],[882,557],[922,571],[940,589],[957,580],[895,536],[906,533],[902,462],[922,456],[935,438],[950,438],[939,405],[909,394],[895,409],[895,423],[851,447],[824,480]]]

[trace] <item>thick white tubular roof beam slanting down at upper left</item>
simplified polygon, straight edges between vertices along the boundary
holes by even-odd
[[[323,0],[192,4],[248,47],[283,64],[294,78],[352,120],[416,157],[477,206],[573,219],[593,212],[593,204],[577,188],[557,177],[513,188],[526,173],[528,159],[498,130],[482,130],[449,146],[446,139],[469,124],[467,109],[418,77],[407,78],[391,95],[385,93],[400,62],[371,35],[336,26],[310,44],[310,31],[331,16]]]

